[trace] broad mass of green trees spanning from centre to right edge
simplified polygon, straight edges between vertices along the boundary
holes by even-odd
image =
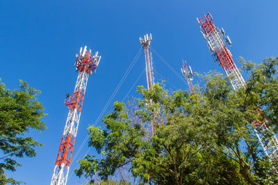
[[[129,104],[115,102],[104,116],[105,129],[88,127],[89,146],[104,159],[87,155],[79,160],[76,175],[107,180],[128,164],[134,177],[150,184],[270,184],[276,183],[252,124],[265,116],[276,127],[277,60],[263,64],[243,62],[250,73],[246,88],[234,90],[219,73],[201,77],[199,94],[169,91],[159,85]],[[271,99],[271,100],[270,100]],[[256,109],[261,108],[258,114]],[[156,127],[147,136],[144,125]],[[147,139],[145,139],[147,138]]]

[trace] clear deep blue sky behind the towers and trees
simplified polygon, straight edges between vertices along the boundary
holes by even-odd
[[[151,46],[180,73],[181,58],[193,71],[206,72],[218,66],[206,47],[196,17],[211,12],[214,23],[231,38],[229,48],[236,61],[243,56],[254,62],[278,55],[278,1],[177,1],[177,0],[67,0],[0,1],[0,54],[2,82],[10,89],[25,80],[42,94],[38,96],[47,116],[45,132],[30,132],[43,147],[34,158],[19,161],[22,167],[11,177],[27,184],[50,184],[65,127],[65,94],[72,94],[77,73],[75,53],[87,45],[102,56],[97,73],[88,81],[74,155],[95,123],[124,72],[140,49],[139,37],[152,33]],[[188,86],[154,55],[156,71],[172,89]],[[239,66],[239,64],[238,64]],[[114,98],[122,100],[145,67],[143,55]],[[161,75],[155,74],[157,78]],[[156,78],[156,80],[157,80]],[[195,82],[198,80],[195,78]],[[145,74],[137,85],[146,85]],[[130,95],[136,95],[136,88]],[[111,105],[106,112],[111,111]],[[87,143],[77,159],[88,150]],[[91,155],[96,155],[90,150]],[[72,161],[70,175],[76,168]],[[84,179],[72,175],[67,184],[81,184]]]

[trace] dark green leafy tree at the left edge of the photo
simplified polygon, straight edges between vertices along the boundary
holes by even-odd
[[[40,118],[44,116],[43,107],[36,96],[40,91],[21,81],[19,89],[6,89],[0,84],[0,184],[20,184],[6,177],[5,170],[15,171],[21,166],[16,157],[35,157],[35,147],[42,146],[31,136],[30,129],[43,131],[47,127]]]

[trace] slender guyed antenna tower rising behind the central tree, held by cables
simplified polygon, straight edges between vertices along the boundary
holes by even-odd
[[[150,33],[149,35],[144,35],[144,39],[142,39],[141,37],[139,39],[145,51],[147,86],[148,89],[152,89],[152,86],[154,85],[154,80],[152,76],[151,64],[149,62],[149,44],[151,44],[152,41],[152,33]]]

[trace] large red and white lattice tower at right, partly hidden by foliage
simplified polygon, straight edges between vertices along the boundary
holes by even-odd
[[[234,89],[245,87],[245,80],[240,71],[238,71],[231,52],[227,49],[227,44],[231,44],[231,40],[225,35],[223,28],[215,27],[213,17],[211,17],[209,12],[204,17],[197,18],[197,21],[201,28],[201,33],[208,43],[208,49],[211,51],[213,59],[223,67],[225,73],[229,76],[231,85]],[[258,112],[261,112],[261,110],[258,109]],[[268,129],[268,121],[264,119],[261,122],[255,121],[253,124],[255,125],[254,131],[265,155],[272,162],[278,161],[278,140],[275,133]]]

